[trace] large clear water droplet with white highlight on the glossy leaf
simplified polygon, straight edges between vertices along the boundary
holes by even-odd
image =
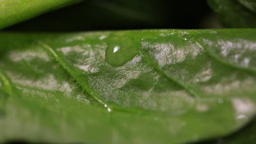
[[[122,66],[137,55],[138,45],[127,35],[110,35],[106,41],[105,62],[112,66]]]

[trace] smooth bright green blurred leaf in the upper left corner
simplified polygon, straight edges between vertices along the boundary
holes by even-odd
[[[81,0],[0,0],[0,29]]]

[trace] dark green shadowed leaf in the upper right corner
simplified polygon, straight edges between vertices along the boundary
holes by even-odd
[[[256,27],[255,0],[208,0],[208,3],[225,27]]]

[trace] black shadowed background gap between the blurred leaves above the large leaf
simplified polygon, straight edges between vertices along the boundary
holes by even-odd
[[[206,0],[84,0],[5,28],[9,31],[91,31],[218,28]]]

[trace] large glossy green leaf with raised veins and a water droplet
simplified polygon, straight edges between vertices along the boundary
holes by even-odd
[[[256,113],[256,29],[0,33],[0,141],[180,144]]]

